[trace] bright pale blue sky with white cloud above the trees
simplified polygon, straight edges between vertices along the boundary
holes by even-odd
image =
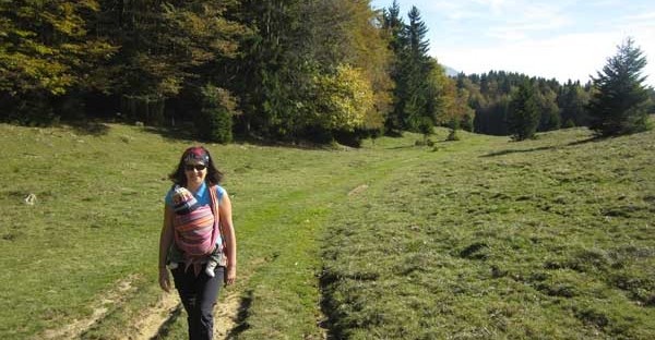
[[[393,0],[372,0],[376,9]],[[646,56],[655,87],[655,1],[398,0],[429,28],[430,54],[465,73],[503,70],[585,83],[626,37]]]

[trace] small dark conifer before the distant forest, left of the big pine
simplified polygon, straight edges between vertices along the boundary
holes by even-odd
[[[539,110],[534,86],[525,81],[512,96],[508,129],[515,141],[533,138],[539,124]]]

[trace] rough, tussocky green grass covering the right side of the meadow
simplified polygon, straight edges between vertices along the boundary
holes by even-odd
[[[463,142],[352,199],[324,247],[335,335],[653,338],[654,134],[587,137]]]

